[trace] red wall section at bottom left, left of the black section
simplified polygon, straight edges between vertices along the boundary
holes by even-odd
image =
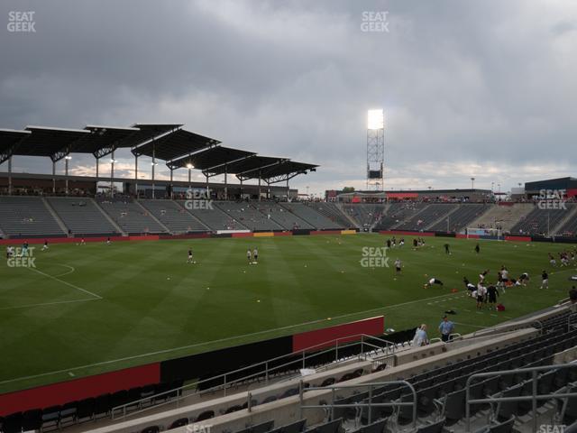
[[[160,382],[160,363],[0,395],[0,416]]]

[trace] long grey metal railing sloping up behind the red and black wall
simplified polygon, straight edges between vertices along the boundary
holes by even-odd
[[[349,341],[353,338],[357,338],[358,341],[353,341],[353,342]],[[377,344],[372,344],[372,343],[370,343],[370,341],[375,342]],[[331,347],[324,349],[327,345],[330,345]],[[354,347],[354,346],[359,346],[359,348],[360,348],[359,353],[357,355],[344,355],[345,357],[343,357],[343,350],[347,349],[347,348]],[[275,358],[268,359],[267,361],[263,361],[261,363],[248,365],[246,367],[242,367],[242,368],[236,369],[236,370],[228,372],[228,373],[218,374],[218,375],[210,377],[208,379],[203,379],[201,381],[189,383],[189,384],[184,385],[184,386],[177,388],[177,389],[173,389],[173,390],[166,391],[166,392],[160,392],[158,394],[154,394],[154,395],[148,396],[148,397],[140,399],[140,400],[130,401],[130,402],[125,403],[123,405],[119,405],[119,406],[114,407],[111,410],[111,417],[112,417],[112,419],[123,419],[123,418],[126,418],[127,416],[133,416],[136,414],[140,414],[143,411],[155,409],[155,408],[158,408],[160,406],[167,405],[167,404],[176,404],[176,407],[179,408],[181,401],[183,401],[183,400],[185,400],[185,399],[187,399],[187,398],[189,398],[195,394],[199,395],[199,394],[203,394],[203,393],[217,392],[219,390],[222,390],[223,396],[225,397],[227,389],[233,387],[234,385],[242,384],[243,382],[246,383],[246,382],[249,382],[250,380],[258,380],[260,378],[264,378],[265,384],[269,383],[270,379],[274,375],[274,373],[282,373],[282,372],[286,372],[289,370],[296,372],[301,368],[306,368],[307,365],[314,364],[315,358],[319,358],[319,357],[321,357],[325,354],[329,354],[331,352],[334,352],[334,360],[328,361],[328,362],[325,360],[322,361],[322,364],[325,364],[325,366],[322,367],[321,369],[319,369],[319,371],[326,370],[326,369],[334,366],[335,364],[341,364],[344,362],[351,361],[354,358],[357,358],[359,361],[361,361],[361,360],[366,361],[367,356],[369,354],[371,354],[372,352],[379,352],[380,351],[380,352],[382,352],[383,355],[386,355],[386,356],[387,355],[394,355],[394,353],[396,351],[396,347],[397,346],[395,345],[395,343],[384,340],[384,339],[379,338],[377,336],[368,336],[366,334],[355,334],[353,336],[343,336],[340,338],[335,338],[334,340],[329,340],[325,343],[320,343],[318,345],[312,345],[312,346],[307,347],[305,349],[301,349],[300,351],[295,352],[295,353],[277,356]],[[341,351],[340,355],[339,355],[339,350]],[[311,354],[310,352],[314,352],[314,353]],[[298,356],[298,359],[292,359],[286,363],[282,362],[282,360],[284,360],[284,359],[294,358],[295,356]],[[321,358],[321,359],[324,359],[324,358]],[[281,363],[281,364],[278,364],[278,363]],[[273,366],[271,364],[273,364]],[[292,368],[290,368],[291,366],[292,366]],[[243,375],[241,377],[236,377],[239,373],[243,374],[243,372],[252,371],[256,368],[261,368],[261,370],[257,371],[256,373],[247,373],[246,375]],[[231,376],[233,376],[234,379],[231,379]],[[206,388],[205,390],[199,390],[198,389],[199,385],[211,383],[211,382],[215,382],[215,381],[220,381],[222,383],[219,383],[215,386]],[[193,392],[185,393],[185,391],[188,391],[188,390],[192,390]],[[166,400],[162,401],[160,403],[151,404],[150,406],[147,406],[146,408],[143,407],[143,405],[145,403],[150,403],[151,401],[158,401],[162,397],[166,397]],[[174,398],[170,398],[170,397],[174,397]],[[129,414],[128,413],[129,409],[133,408],[133,407],[136,407],[137,410],[133,410]],[[120,412],[119,416],[116,415],[117,412]]]

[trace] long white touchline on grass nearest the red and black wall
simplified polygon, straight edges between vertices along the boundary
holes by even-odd
[[[311,320],[311,321],[305,322],[305,323],[299,323],[299,324],[297,324],[297,325],[289,325],[289,326],[287,326],[287,327],[276,327],[276,328],[267,329],[267,330],[264,330],[264,331],[252,332],[251,334],[243,334],[243,335],[241,335],[241,336],[229,336],[229,337],[226,337],[226,338],[219,338],[219,339],[217,339],[217,340],[206,341],[206,342],[197,343],[197,344],[194,344],[194,345],[183,345],[183,346],[174,347],[174,348],[171,348],[171,349],[159,350],[159,351],[156,351],[156,352],[150,352],[150,353],[148,353],[148,354],[126,356],[126,357],[124,357],[124,358],[113,359],[113,360],[110,360],[110,361],[103,361],[103,362],[101,362],[101,363],[96,363],[96,364],[80,365],[80,366],[78,366],[78,367],[66,368],[66,369],[63,369],[63,370],[57,370],[57,371],[49,372],[49,373],[41,373],[41,374],[34,374],[34,375],[31,375],[31,376],[23,376],[23,377],[18,377],[18,378],[15,378],[15,379],[9,379],[9,380],[7,380],[7,381],[2,381],[2,382],[0,382],[0,384],[12,383],[12,382],[20,382],[20,381],[25,381],[25,380],[29,380],[29,379],[36,379],[36,378],[44,377],[44,376],[51,376],[51,375],[53,375],[53,374],[69,373],[69,372],[74,372],[74,371],[76,371],[76,370],[81,370],[81,369],[86,369],[86,368],[91,368],[91,367],[97,367],[97,366],[101,366],[101,365],[116,364],[116,363],[120,363],[120,362],[123,362],[123,361],[131,361],[131,360],[133,360],[133,359],[144,358],[144,357],[147,357],[147,356],[169,354],[169,353],[171,353],[171,352],[177,352],[177,351],[179,351],[179,350],[191,349],[191,348],[194,348],[194,347],[200,347],[200,346],[203,346],[203,345],[211,345],[211,344],[214,344],[214,343],[224,343],[224,342],[227,342],[227,341],[236,340],[236,339],[244,338],[244,337],[247,337],[247,336],[260,336],[260,335],[263,335],[263,334],[270,334],[270,333],[272,333],[272,332],[277,332],[277,331],[282,331],[282,330],[291,329],[291,328],[293,328],[293,327],[303,327],[303,326],[307,326],[307,325],[314,325],[314,324],[322,323],[322,322],[325,322],[325,321],[333,321],[333,320],[339,319],[339,318],[349,318],[349,317],[351,317],[351,316],[358,316],[358,315],[362,315],[362,314],[366,314],[366,313],[371,313],[371,312],[376,312],[376,311],[382,311],[383,309],[394,309],[394,308],[402,307],[402,306],[405,306],[405,305],[410,305],[410,304],[414,304],[414,303],[419,303],[419,302],[423,302],[423,301],[430,300],[430,299],[438,299],[438,298],[442,298],[442,297],[445,297],[445,296],[451,296],[451,295],[453,295],[453,293],[451,293],[451,294],[444,294],[444,295],[435,296],[435,297],[426,298],[426,299],[409,300],[408,302],[402,302],[402,303],[400,303],[400,304],[389,305],[389,306],[387,306],[387,307],[381,307],[381,308],[379,308],[379,309],[367,309],[367,310],[365,310],[365,311],[358,311],[358,312],[356,312],[356,313],[343,314],[343,315],[341,315],[341,316],[335,316],[334,318],[320,318],[320,319]]]

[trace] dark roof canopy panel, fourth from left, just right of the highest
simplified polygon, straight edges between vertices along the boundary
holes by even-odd
[[[172,161],[183,155],[189,155],[207,147],[214,147],[219,143],[221,142],[214,138],[191,133],[184,129],[177,129],[161,134],[146,143],[134,147],[133,154],[135,156],[144,155],[164,161]]]

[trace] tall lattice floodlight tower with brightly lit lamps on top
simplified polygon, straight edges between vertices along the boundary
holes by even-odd
[[[367,189],[384,189],[385,115],[382,108],[367,115]]]

